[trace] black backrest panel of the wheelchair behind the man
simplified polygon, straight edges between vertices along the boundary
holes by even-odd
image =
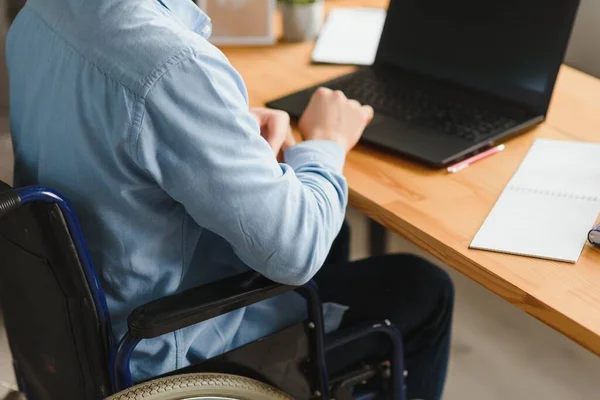
[[[0,182],[0,193],[10,187]],[[0,217],[0,304],[19,387],[30,400],[112,392],[110,322],[56,203]]]

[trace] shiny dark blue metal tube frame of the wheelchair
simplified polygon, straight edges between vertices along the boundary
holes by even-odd
[[[128,332],[121,339],[120,344],[118,346],[115,345],[115,340],[111,335],[110,314],[108,312],[104,290],[102,289],[98,274],[92,263],[85,237],[75,211],[67,200],[52,189],[44,187],[25,187],[13,190],[20,199],[20,204],[24,205],[34,202],[50,203],[58,205],[62,211],[79,255],[80,263],[90,286],[92,297],[97,306],[98,319],[100,323],[107,328],[107,332],[110,336],[108,338],[109,359],[107,362],[113,389],[115,392],[118,392],[133,386],[129,364],[131,355],[141,339],[134,338]],[[317,285],[311,281],[303,287],[298,288],[297,291],[303,295],[308,302],[308,326],[311,328],[310,333],[312,335],[311,339],[313,343],[313,354],[311,356],[313,357],[313,360],[316,361],[315,364],[318,369],[317,387],[320,388],[320,390],[315,391],[314,397],[329,400],[329,376],[325,360],[327,351],[341,347],[361,337],[379,333],[386,336],[392,343],[391,399],[405,400],[403,344],[400,332],[388,321],[384,321],[383,323],[365,324],[361,327],[352,328],[349,331],[338,331],[326,337],[324,334],[323,312]]]

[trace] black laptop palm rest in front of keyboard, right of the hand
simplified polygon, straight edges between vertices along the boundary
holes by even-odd
[[[429,164],[442,166],[474,143],[376,114],[363,140],[388,147]]]

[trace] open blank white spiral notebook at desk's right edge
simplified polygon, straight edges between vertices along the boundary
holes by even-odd
[[[471,248],[577,262],[600,212],[600,144],[538,139]]]

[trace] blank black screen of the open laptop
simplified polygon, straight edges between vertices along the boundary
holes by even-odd
[[[545,113],[578,0],[392,0],[377,63]]]

